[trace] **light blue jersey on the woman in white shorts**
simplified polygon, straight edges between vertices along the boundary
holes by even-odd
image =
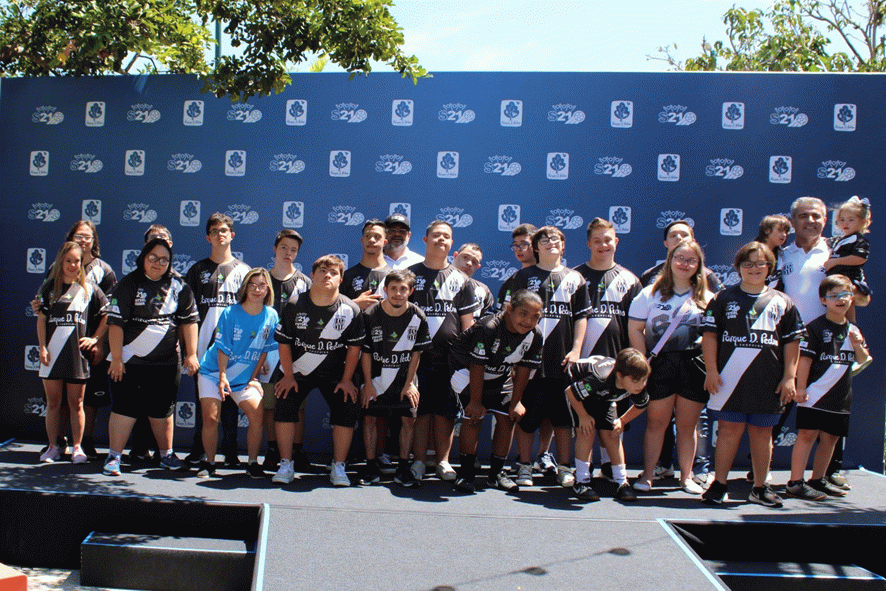
[[[218,352],[221,351],[228,356],[226,374],[231,390],[243,390],[262,353],[277,348],[274,340],[277,320],[277,312],[270,306],[255,316],[247,314],[240,304],[222,310],[215,341],[200,360],[200,373],[218,384]]]

